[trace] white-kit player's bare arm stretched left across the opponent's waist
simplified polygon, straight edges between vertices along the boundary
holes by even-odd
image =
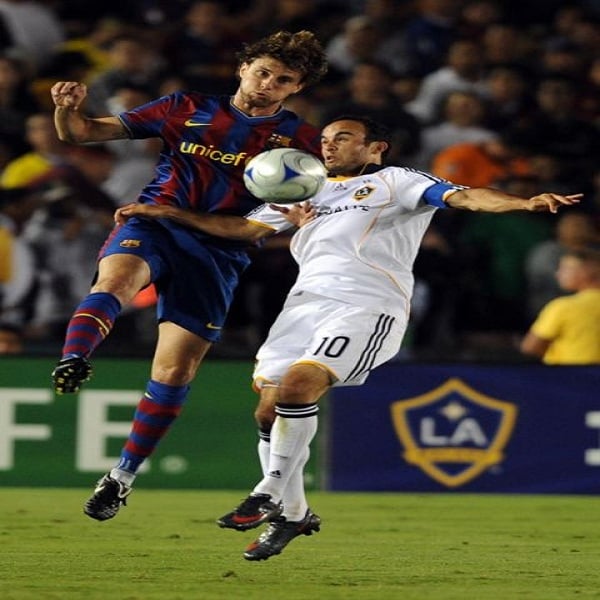
[[[256,241],[273,233],[270,227],[235,215],[197,213],[175,206],[132,203],[115,211],[115,223],[123,225],[131,217],[169,219],[180,225],[198,229],[209,235],[235,240]]]

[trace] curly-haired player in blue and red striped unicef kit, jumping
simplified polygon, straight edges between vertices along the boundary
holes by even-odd
[[[205,214],[245,215],[258,201],[245,189],[244,165],[277,146],[319,154],[320,132],[283,108],[290,95],[319,81],[325,53],[308,31],[278,32],[238,55],[233,96],[177,92],[117,116],[89,118],[82,83],[51,90],[61,140],[81,144],[158,137],[163,149],[139,202]],[[100,251],[90,294],[76,308],[52,373],[57,393],[77,392],[92,374],[89,356],[110,333],[121,308],[151,283],[158,292],[158,340],[150,380],[118,464],[100,479],[84,512],[100,521],[125,504],[140,465],[179,415],[189,386],[220,330],[239,277],[245,244],[166,219],[130,219]]]

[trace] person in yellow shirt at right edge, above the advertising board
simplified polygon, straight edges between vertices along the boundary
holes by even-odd
[[[600,364],[600,243],[565,253],[556,277],[574,293],[542,308],[521,352],[548,365]]]

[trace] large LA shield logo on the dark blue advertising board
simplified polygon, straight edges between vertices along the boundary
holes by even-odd
[[[391,405],[406,462],[446,487],[458,487],[504,459],[517,407],[457,378]]]

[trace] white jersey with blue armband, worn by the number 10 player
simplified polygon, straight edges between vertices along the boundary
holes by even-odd
[[[443,199],[463,186],[404,167],[374,169],[329,178],[310,200],[318,216],[292,238],[299,274],[290,295],[311,292],[389,314],[408,312],[421,239]],[[290,227],[268,205],[247,218],[277,231]]]

